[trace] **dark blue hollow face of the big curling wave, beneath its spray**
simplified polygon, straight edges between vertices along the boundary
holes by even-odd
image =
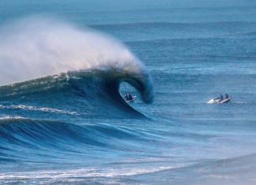
[[[149,91],[152,84],[144,80],[145,76],[137,73],[94,69],[13,83],[0,87],[0,115],[11,117],[18,112],[19,117],[48,119],[50,114],[53,120],[59,120],[58,115],[66,119],[139,116],[141,114],[123,100],[119,85],[122,81],[132,84],[149,103],[153,97]]]

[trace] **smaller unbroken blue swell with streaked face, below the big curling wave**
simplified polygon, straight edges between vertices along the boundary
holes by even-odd
[[[85,158],[109,158],[108,152],[152,150],[157,137],[109,124],[77,125],[52,120],[6,118],[0,120],[0,163],[88,163]],[[151,142],[151,146],[147,143]],[[149,149],[146,149],[149,148]],[[22,151],[22,152],[21,152]],[[102,152],[106,152],[106,156]],[[85,161],[84,161],[85,160]],[[92,159],[93,161],[93,159]],[[61,162],[61,163],[62,163]],[[8,166],[6,166],[7,168]],[[5,169],[0,169],[4,172]]]

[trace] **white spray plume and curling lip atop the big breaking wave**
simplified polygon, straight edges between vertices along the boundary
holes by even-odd
[[[0,31],[0,85],[61,72],[102,70],[122,73],[115,83],[130,83],[144,102],[153,101],[145,65],[117,40],[48,17],[30,17]]]

